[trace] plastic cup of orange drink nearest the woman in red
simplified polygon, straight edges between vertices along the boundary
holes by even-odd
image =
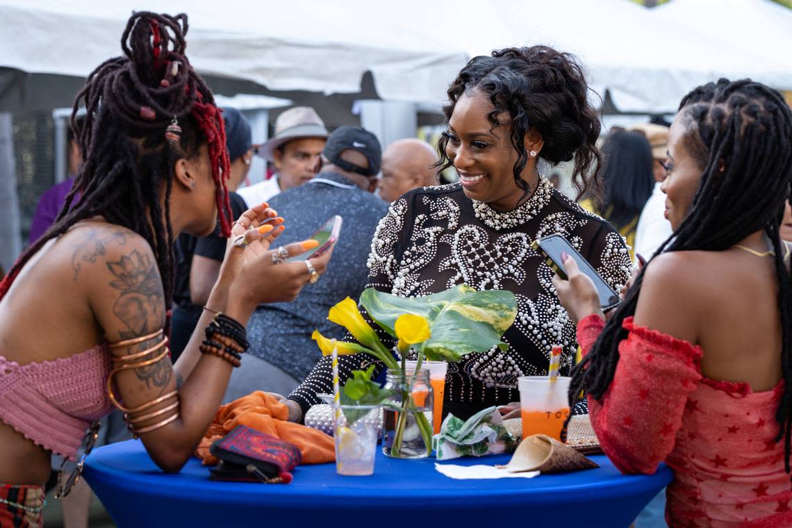
[[[523,439],[531,435],[548,435],[561,440],[561,431],[569,418],[570,380],[564,376],[559,376],[554,382],[547,376],[517,378]]]

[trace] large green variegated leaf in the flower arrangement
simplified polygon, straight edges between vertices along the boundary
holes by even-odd
[[[432,336],[423,350],[434,361],[456,362],[463,355],[488,351],[493,346],[506,350],[508,344],[501,341],[501,336],[517,315],[517,301],[511,291],[477,291],[466,284],[418,298],[368,288],[360,296],[360,304],[371,319],[394,337],[394,325],[400,315],[414,313],[424,317]]]

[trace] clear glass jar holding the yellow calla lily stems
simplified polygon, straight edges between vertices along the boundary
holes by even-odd
[[[425,458],[432,453],[432,384],[429,370],[388,370],[393,390],[383,408],[383,453],[393,458]]]

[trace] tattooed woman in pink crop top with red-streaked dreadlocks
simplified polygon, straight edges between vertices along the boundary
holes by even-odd
[[[97,67],[74,104],[73,116],[87,111],[85,162],[66,206],[0,283],[2,526],[40,524],[50,454],[74,459],[113,405],[154,462],[181,469],[246,351],[249,314],[326,268],[329,253],[283,262],[314,241],[268,251],[284,226],[266,204],[232,225],[223,118],[184,55],[186,32],[185,15],[131,17],[124,56]],[[210,234],[218,216],[234,242],[173,366],[173,241]],[[61,495],[75,475],[62,477]]]

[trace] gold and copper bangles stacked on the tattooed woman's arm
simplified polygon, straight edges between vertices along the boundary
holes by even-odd
[[[177,420],[179,417],[179,393],[174,389],[169,393],[163,394],[161,397],[147,401],[143,405],[128,408],[124,407],[124,405],[118,401],[118,398],[116,398],[116,394],[113,391],[112,377],[123,370],[150,367],[151,365],[154,365],[154,363],[158,363],[160,361],[170,361],[168,338],[163,334],[162,330],[159,330],[158,332],[154,332],[148,336],[118,341],[117,343],[112,343],[109,345],[109,348],[112,351],[118,348],[132,347],[136,344],[141,344],[148,340],[157,338],[160,338],[158,343],[153,347],[147,348],[146,350],[135,352],[134,354],[130,355],[112,355],[112,370],[110,370],[110,374],[107,378],[107,393],[110,397],[110,401],[112,401],[112,405],[115,405],[116,408],[118,408],[121,412],[124,412],[124,420],[127,422],[129,431],[131,431],[135,438],[138,438],[138,436],[142,435],[143,433],[154,431],[160,427],[170,424],[173,422],[173,420]],[[161,404],[162,402],[169,402],[169,404],[156,411],[146,412],[150,408],[153,408],[155,405]],[[161,421],[158,421],[154,424],[147,424],[147,422],[150,420],[160,417],[162,417]]]

